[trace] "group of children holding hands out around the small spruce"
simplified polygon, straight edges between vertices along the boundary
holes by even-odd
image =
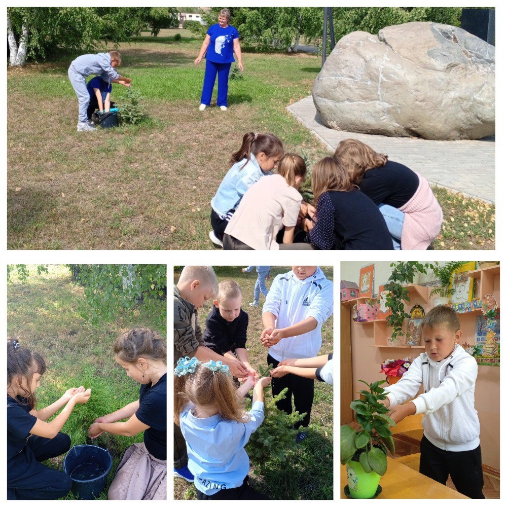
[[[202,333],[197,310],[211,298]],[[306,413],[295,426],[300,443],[308,434],[314,380],[333,383],[332,354],[317,356],[322,324],[333,311],[333,283],[318,266],[293,266],[271,284],[260,336],[274,367],[269,376],[260,378],[248,359],[241,303],[240,285],[219,284],[211,266],[186,266],[174,285],[174,476],[193,482],[202,500],[268,499],[248,484],[244,449],[264,420],[263,388],[271,383],[275,396],[287,387],[277,407],[292,413],[294,398],[296,410]]]

